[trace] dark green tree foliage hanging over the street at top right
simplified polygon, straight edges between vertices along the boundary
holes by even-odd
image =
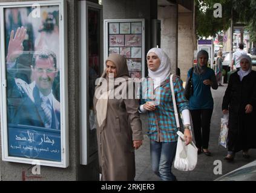
[[[215,3],[222,4],[222,18],[214,17]],[[195,25],[197,37],[215,36],[228,30],[233,22],[248,25],[250,38],[256,40],[256,0],[195,0]]]

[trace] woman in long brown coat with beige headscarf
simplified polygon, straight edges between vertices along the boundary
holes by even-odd
[[[99,166],[104,181],[134,180],[135,177],[134,149],[142,145],[143,134],[139,101],[126,99],[128,84],[132,84],[128,78],[126,59],[111,54],[106,60],[102,84],[98,84],[94,95]],[[117,97],[120,92],[121,98]]]

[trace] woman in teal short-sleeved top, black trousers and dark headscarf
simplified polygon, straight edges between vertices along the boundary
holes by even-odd
[[[194,128],[195,145],[198,148],[198,154],[203,153],[211,156],[208,150],[210,124],[214,101],[212,98],[212,89],[217,89],[218,84],[215,72],[208,68],[208,52],[201,50],[197,53],[197,65],[189,69],[186,83],[188,83],[191,71],[192,84],[194,87],[193,94],[189,98],[189,110],[191,112],[192,123]],[[188,84],[186,84],[186,87]]]

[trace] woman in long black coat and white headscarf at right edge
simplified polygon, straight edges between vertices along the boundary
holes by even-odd
[[[252,71],[249,55],[240,56],[240,66],[229,79],[222,103],[223,114],[229,113],[228,155],[225,157],[229,162],[241,150],[248,159],[248,150],[256,148],[256,72]]]

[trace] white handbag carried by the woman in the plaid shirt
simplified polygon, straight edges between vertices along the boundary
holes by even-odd
[[[184,134],[177,131],[179,139],[177,142],[176,156],[174,160],[174,168],[180,171],[191,171],[197,165],[197,147],[191,142],[185,145]]]

